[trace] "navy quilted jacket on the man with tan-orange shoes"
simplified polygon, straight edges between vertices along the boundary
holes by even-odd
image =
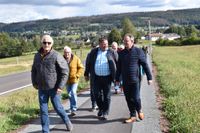
[[[144,52],[137,47],[132,47],[129,50],[122,50],[119,53],[117,63],[116,81],[119,81],[120,74],[122,74],[124,84],[139,82],[140,65],[143,67],[147,75],[147,80],[152,80],[152,75]]]

